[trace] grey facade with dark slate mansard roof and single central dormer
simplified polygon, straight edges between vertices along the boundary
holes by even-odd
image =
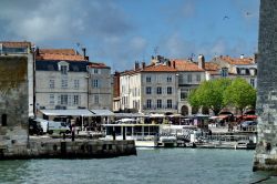
[[[38,109],[88,108],[85,61],[37,61],[35,96]]]

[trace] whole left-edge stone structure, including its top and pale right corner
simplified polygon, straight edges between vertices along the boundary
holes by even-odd
[[[0,42],[0,157],[25,152],[33,115],[33,53],[30,42]]]

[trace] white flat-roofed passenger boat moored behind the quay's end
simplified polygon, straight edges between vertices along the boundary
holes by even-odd
[[[106,140],[134,140],[136,147],[175,146],[176,136],[161,134],[162,124],[103,124]]]

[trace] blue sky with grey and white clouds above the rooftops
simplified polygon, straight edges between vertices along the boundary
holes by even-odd
[[[252,57],[258,19],[259,0],[1,0],[0,40],[86,48],[90,61],[124,71],[156,54]]]

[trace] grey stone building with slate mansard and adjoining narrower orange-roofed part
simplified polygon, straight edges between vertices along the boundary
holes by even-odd
[[[39,49],[35,59],[38,110],[111,109],[111,69],[73,49]]]

